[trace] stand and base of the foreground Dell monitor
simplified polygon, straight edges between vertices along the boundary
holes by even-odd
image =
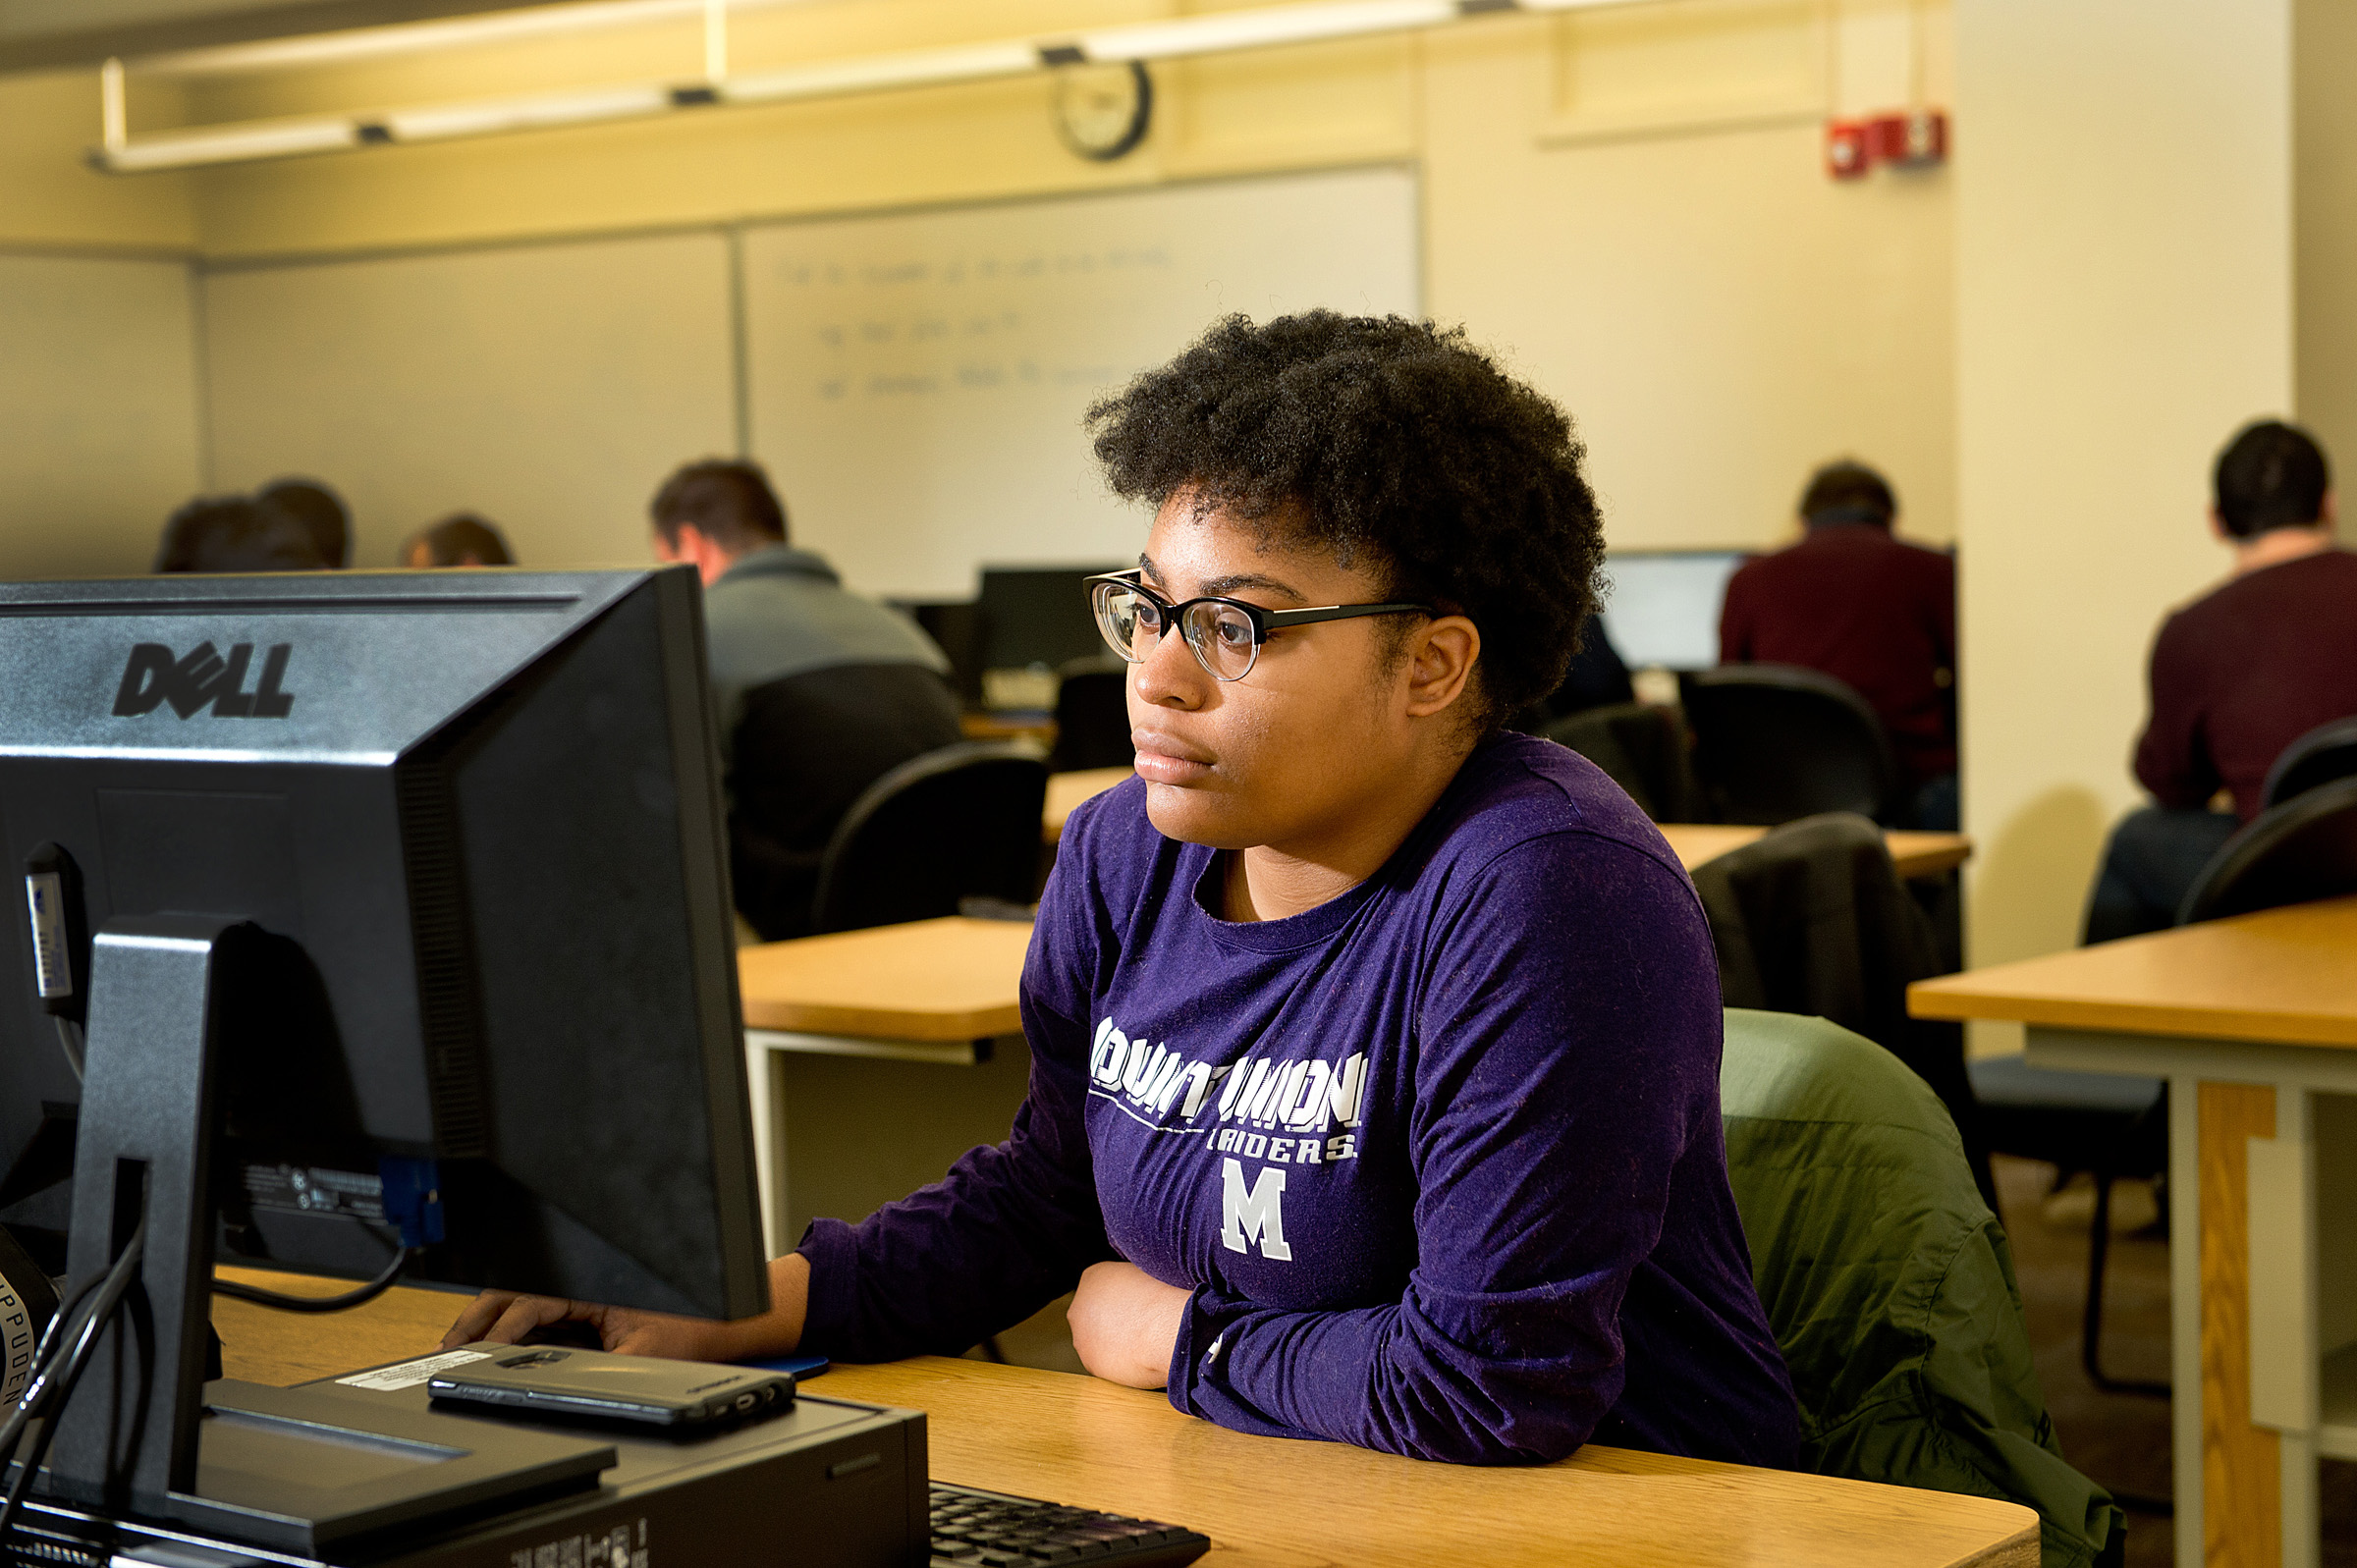
[[[113,920],[92,941],[68,1278],[106,1273],[141,1214],[146,1243],[35,1490],[321,1551],[594,1485],[615,1462],[610,1443],[203,1382],[224,997],[257,936],[236,917],[153,915]]]

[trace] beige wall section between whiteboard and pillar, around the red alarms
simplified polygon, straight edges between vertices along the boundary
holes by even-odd
[[[1770,542],[1843,453],[1949,540],[1949,179],[1827,179],[1820,14],[1714,9],[1428,42],[1428,307],[1572,410],[1615,545]],[[1907,80],[1848,92],[1890,108]]]

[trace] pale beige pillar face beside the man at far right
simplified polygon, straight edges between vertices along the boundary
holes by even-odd
[[[2209,462],[2293,403],[2289,0],[1961,0],[1956,465],[1973,962],[2065,948]]]

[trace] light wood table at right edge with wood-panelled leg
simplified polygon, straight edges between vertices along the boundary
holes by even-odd
[[[1975,969],[1919,1019],[2168,1080],[2178,1563],[2317,1561],[2317,1460],[2357,1460],[2357,898]]]

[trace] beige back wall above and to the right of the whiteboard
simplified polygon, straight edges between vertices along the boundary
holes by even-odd
[[[988,35],[1155,0],[992,5]],[[985,33],[959,0],[752,12],[742,68]],[[693,28],[193,83],[200,118],[691,73]],[[1426,307],[1560,396],[1617,545],[1754,545],[1805,469],[1888,465],[1954,535],[1949,179],[1834,184],[1829,111],[1945,101],[1947,7],[1678,0],[1626,17],[1178,61],[1117,165],[1056,141],[1037,78],[196,177],[207,257],[707,224],[1414,158]],[[146,92],[134,80],[134,101]],[[1176,347],[1176,344],[1174,344]]]

